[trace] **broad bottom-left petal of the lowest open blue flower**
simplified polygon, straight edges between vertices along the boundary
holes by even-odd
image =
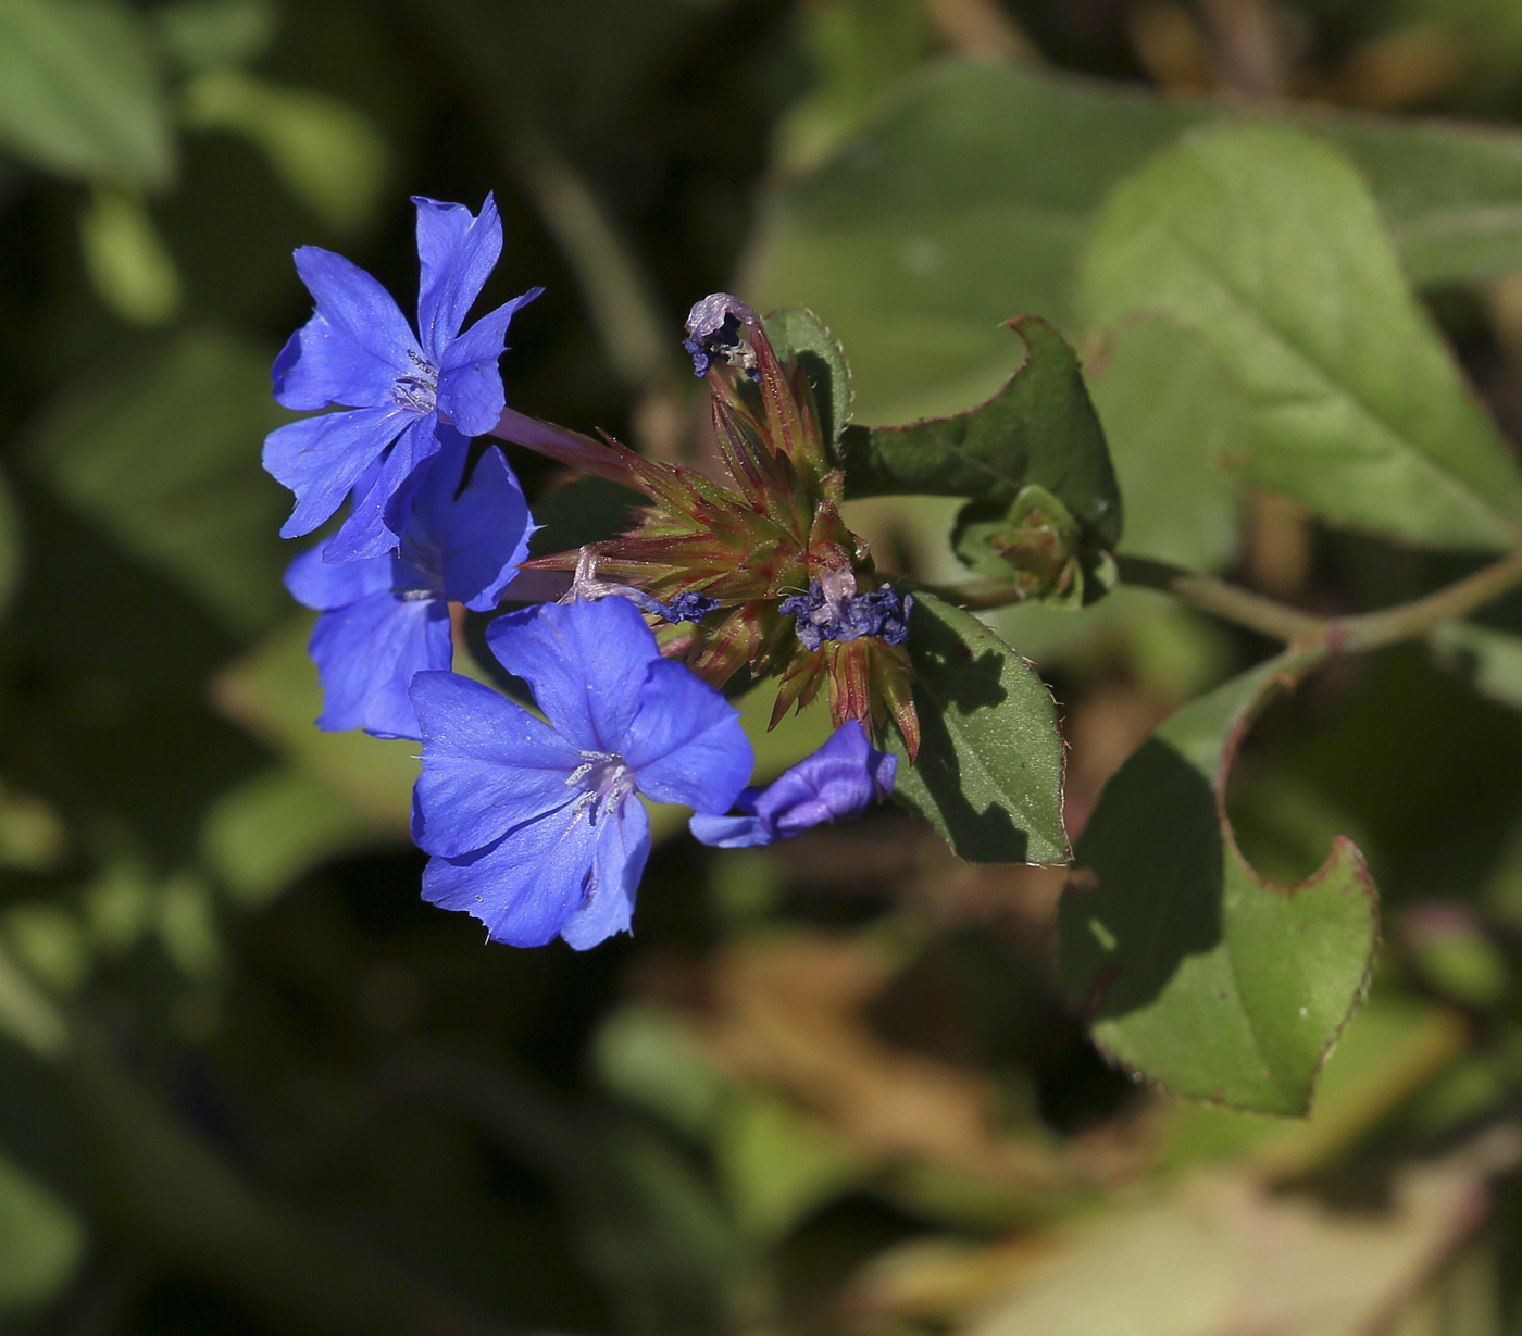
[[[432,858],[423,899],[481,919],[493,942],[543,946],[577,913],[594,884],[601,828],[568,802],[463,858]],[[594,901],[598,896],[594,895]]]

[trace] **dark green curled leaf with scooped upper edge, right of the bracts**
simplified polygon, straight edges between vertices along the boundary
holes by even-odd
[[[1120,491],[1078,358],[1043,320],[1009,327],[1026,358],[1005,388],[951,417],[849,426],[840,438],[846,496],[968,496],[1012,502],[1032,482],[1103,546],[1120,537]]]

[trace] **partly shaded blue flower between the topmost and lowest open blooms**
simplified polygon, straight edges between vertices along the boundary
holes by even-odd
[[[314,548],[286,571],[286,589],[323,613],[310,642],[323,682],[318,727],[422,736],[408,689],[414,673],[454,657],[447,600],[495,607],[528,555],[528,505],[502,452],[489,449],[460,491],[470,443],[449,426],[440,437],[397,552],[327,563]]]

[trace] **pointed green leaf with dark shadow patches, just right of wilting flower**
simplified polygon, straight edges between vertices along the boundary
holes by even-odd
[[[909,657],[919,758],[903,738],[893,796],[970,863],[1065,863],[1062,740],[1052,692],[971,613],[916,593]]]

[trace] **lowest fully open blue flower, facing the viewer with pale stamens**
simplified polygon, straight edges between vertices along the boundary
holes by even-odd
[[[728,811],[750,743],[734,706],[662,659],[622,598],[511,613],[487,641],[549,723],[457,674],[417,676],[412,838],[434,855],[423,898],[475,915],[493,942],[595,946],[629,928],[650,852],[635,794]]]

